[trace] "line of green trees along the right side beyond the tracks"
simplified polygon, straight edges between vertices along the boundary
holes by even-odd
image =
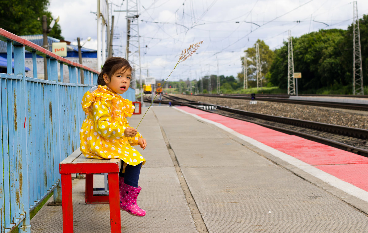
[[[363,82],[368,86],[368,15],[359,19]],[[353,87],[353,24],[347,30],[321,29],[293,37],[294,71],[302,73],[299,93],[351,94]],[[287,89],[288,42],[270,50],[263,40],[257,40],[261,57],[263,87]],[[255,80],[255,47],[248,48],[248,80]],[[244,66],[244,57],[241,58]],[[238,73],[243,82],[243,72]],[[367,93],[367,88],[365,88]],[[326,92],[324,92],[326,93]]]

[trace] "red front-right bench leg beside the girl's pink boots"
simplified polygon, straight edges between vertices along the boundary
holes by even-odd
[[[121,233],[119,175],[109,173],[110,225],[112,233]]]

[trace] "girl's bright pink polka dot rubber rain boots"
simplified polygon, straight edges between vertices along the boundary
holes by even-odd
[[[131,215],[143,217],[146,215],[146,211],[139,208],[137,205],[137,197],[141,191],[141,187],[138,188],[124,184],[122,198],[120,199],[120,209],[125,210]]]

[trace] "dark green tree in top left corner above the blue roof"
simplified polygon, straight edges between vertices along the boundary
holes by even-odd
[[[42,15],[47,16],[48,25],[53,19],[47,11],[49,4],[49,0],[0,0],[0,28],[18,36],[42,34]],[[57,23],[48,35],[64,39]]]

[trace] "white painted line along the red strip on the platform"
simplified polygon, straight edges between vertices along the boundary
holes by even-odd
[[[236,131],[234,131],[233,129],[224,126],[223,124],[217,123],[215,121],[212,120],[208,120],[205,119],[203,117],[200,117],[196,114],[192,114],[192,113],[188,113],[185,112],[184,110],[178,109],[177,107],[174,107],[175,109],[179,110],[180,112],[189,114],[199,120],[205,121],[207,123],[210,124],[214,124],[215,126],[222,128],[223,130],[229,132],[230,134],[233,134],[234,136],[241,138],[242,140],[258,147],[259,149],[268,152],[288,163],[290,163],[291,165],[294,165],[298,168],[300,168],[301,170],[303,170],[304,172],[307,172],[309,174],[311,174],[312,176],[317,177],[318,179],[323,180],[324,182],[330,184],[333,187],[339,188],[340,190],[353,195],[357,198],[360,198],[361,200],[368,202],[368,192],[365,190],[362,190],[361,188],[358,188],[356,186],[354,186],[353,184],[347,183],[346,181],[340,180],[335,176],[332,176],[331,174],[327,173],[327,172],[323,172],[322,170],[319,170],[318,168],[309,165],[308,163],[305,163],[291,155],[288,155],[284,152],[278,151],[268,145],[263,144],[262,142],[259,142],[257,140],[254,140],[253,138],[247,137],[243,134],[240,134]]]

